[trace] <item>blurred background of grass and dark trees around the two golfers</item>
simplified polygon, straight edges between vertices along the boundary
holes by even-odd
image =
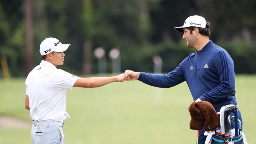
[[[58,68],[77,76],[168,73],[195,52],[174,29],[192,15],[211,22],[210,39],[234,60],[244,132],[256,144],[255,13],[256,0],[0,0],[0,144],[31,143],[24,82],[42,60],[45,38],[71,44]],[[68,90],[66,144],[196,141],[188,127],[193,100],[186,83],[74,89]]]

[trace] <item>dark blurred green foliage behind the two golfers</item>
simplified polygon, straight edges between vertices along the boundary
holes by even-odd
[[[25,23],[22,0],[0,1],[0,56],[5,56],[11,76],[26,76]],[[82,74],[84,43],[93,50],[114,47],[121,51],[122,71],[153,71],[152,56],[163,59],[163,72],[170,72],[195,52],[186,48],[182,33],[174,30],[191,15],[211,22],[210,39],[228,50],[236,73],[256,73],[254,59],[256,15],[255,0],[36,0],[33,1],[34,66],[41,56],[40,43],[56,37],[71,44],[65,64],[60,68]],[[93,56],[92,56],[93,57]],[[92,72],[97,73],[97,59]],[[1,72],[0,72],[1,73]],[[2,75],[0,75],[2,77]]]

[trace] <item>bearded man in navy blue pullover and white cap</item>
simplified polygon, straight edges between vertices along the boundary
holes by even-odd
[[[190,54],[168,74],[126,70],[126,80],[140,80],[159,88],[170,88],[186,81],[194,101],[208,101],[216,112],[227,104],[236,105],[234,62],[226,50],[209,39],[210,22],[206,22],[202,16],[190,16],[183,26],[175,29],[183,32],[182,38],[186,40],[187,47],[195,48],[196,52]],[[238,118],[242,129],[239,111]],[[198,144],[205,142],[204,131],[200,131]]]

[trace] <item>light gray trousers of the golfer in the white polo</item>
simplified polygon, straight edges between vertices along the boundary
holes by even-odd
[[[31,128],[33,144],[64,144],[61,126],[34,126]]]

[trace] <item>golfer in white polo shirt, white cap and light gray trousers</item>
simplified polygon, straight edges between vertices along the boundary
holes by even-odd
[[[125,81],[124,74],[112,77],[80,78],[56,66],[64,64],[64,51],[70,44],[56,38],[46,38],[40,44],[42,62],[26,78],[25,108],[33,120],[33,144],[64,144],[63,120],[66,112],[66,90],[73,87],[94,88],[110,82]]]

